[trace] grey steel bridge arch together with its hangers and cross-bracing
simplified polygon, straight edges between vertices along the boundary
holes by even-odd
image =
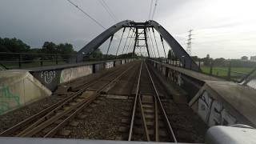
[[[134,22],[130,20],[118,22],[114,26],[111,26],[109,29],[102,32],[102,34],[99,34],[96,38],[90,41],[86,46],[82,47],[82,49],[78,51],[77,61],[82,62],[84,55],[86,54],[89,55],[90,53],[94,52],[94,50],[97,50],[98,47],[101,46],[103,42],[106,42],[108,38],[111,38],[110,41],[112,41],[114,34],[118,32],[118,30],[121,30],[122,28],[124,28],[123,33],[126,30],[126,28],[130,28],[134,31],[133,54],[135,49],[139,47],[138,41],[143,40],[146,43],[145,47],[147,50],[148,57],[151,58],[150,50],[148,46],[147,32],[150,29],[153,32],[156,30],[160,34],[161,41],[163,41],[163,39],[166,41],[166,43],[170,46],[171,50],[174,52],[175,57],[178,58],[179,62],[182,63],[182,66],[190,70],[196,70],[196,71],[200,70],[199,66],[192,60],[192,58],[190,58],[190,55],[186,53],[186,50],[182,48],[182,46],[174,39],[174,37],[158,22],[155,22],[153,20],[149,20],[146,22]],[[138,30],[142,30],[142,32],[139,33]],[[138,37],[140,34],[144,35],[143,39],[140,39]],[[158,55],[159,55],[159,52],[158,52]],[[165,55],[166,55],[166,51],[165,51]]]

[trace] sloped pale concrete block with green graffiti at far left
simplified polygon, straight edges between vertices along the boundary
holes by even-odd
[[[0,71],[0,114],[50,96],[51,91],[28,71]]]

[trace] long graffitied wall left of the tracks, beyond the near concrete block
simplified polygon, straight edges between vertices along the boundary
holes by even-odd
[[[108,60],[102,62],[87,62],[81,64],[68,65],[67,67],[62,66],[61,68],[55,69],[51,66],[47,69],[38,68],[38,70],[30,70],[30,74],[37,78],[44,86],[49,90],[56,90],[58,84],[63,82],[70,82],[76,78],[81,78],[88,74],[97,73],[98,71],[109,69],[114,66],[125,64],[126,62],[132,62],[133,59],[123,60]]]

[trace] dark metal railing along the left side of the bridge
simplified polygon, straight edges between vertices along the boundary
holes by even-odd
[[[104,60],[130,58],[126,55],[118,57],[102,54],[98,57],[95,54],[84,55],[82,62],[95,62]],[[7,53],[0,52],[0,70],[2,69],[24,69],[38,66],[54,66],[78,63],[77,54],[35,54],[35,53]]]

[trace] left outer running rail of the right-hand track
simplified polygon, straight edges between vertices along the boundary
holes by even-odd
[[[141,63],[139,74],[138,74],[138,84],[137,84],[136,95],[135,95],[135,98],[134,98],[133,114],[132,114],[132,118],[130,120],[130,130],[129,130],[128,141],[131,140],[131,137],[132,137],[132,134],[133,134],[134,117],[135,117],[135,111],[136,111],[137,99],[138,99],[138,88],[139,88],[139,85],[140,85],[140,80],[141,80],[141,75],[142,75],[142,64],[143,63]]]

